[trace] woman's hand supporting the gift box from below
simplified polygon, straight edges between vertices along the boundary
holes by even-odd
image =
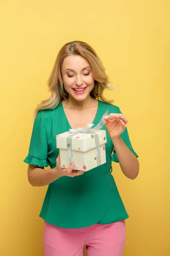
[[[63,177],[63,176],[75,177],[75,176],[82,175],[84,173],[84,171],[77,171],[77,170],[75,171],[74,167],[75,167],[75,163],[72,163],[71,166],[69,166],[68,168],[62,168],[60,164],[60,156],[58,155],[56,159],[55,170],[59,175],[59,177]]]

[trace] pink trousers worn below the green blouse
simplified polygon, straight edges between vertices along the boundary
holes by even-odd
[[[122,256],[125,247],[125,221],[63,229],[45,222],[44,256]]]

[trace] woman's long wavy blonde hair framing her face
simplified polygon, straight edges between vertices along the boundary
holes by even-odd
[[[103,91],[105,89],[113,90],[109,84],[108,76],[105,73],[105,68],[103,67],[102,61],[96,54],[94,49],[82,41],[72,41],[65,44],[57,55],[56,61],[54,63],[53,70],[48,79],[48,87],[51,92],[49,99],[42,100],[40,104],[34,111],[34,115],[38,113],[39,110],[43,109],[54,109],[59,105],[62,99],[68,98],[68,93],[64,90],[62,84],[61,66],[65,57],[70,55],[80,55],[84,57],[91,65],[92,74],[94,80],[96,81],[96,86],[91,91],[90,95],[94,99],[100,99],[106,103],[113,103],[113,100],[107,100],[103,96]]]

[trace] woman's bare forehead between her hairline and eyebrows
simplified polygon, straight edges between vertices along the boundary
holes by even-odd
[[[90,63],[80,55],[71,55],[64,58],[62,70],[67,68],[73,70],[82,70],[84,67],[90,66]]]

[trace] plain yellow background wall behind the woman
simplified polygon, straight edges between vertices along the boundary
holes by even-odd
[[[0,1],[0,255],[43,255],[39,213],[47,187],[31,187],[23,159],[57,52],[73,40],[94,47],[119,84],[106,96],[129,119],[139,154],[136,180],[113,163],[130,215],[124,256],[170,255],[169,11],[168,0]]]

